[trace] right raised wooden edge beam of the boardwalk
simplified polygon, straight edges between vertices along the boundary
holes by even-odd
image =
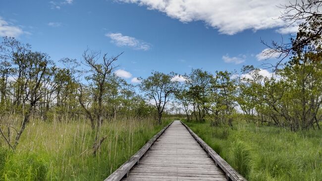
[[[228,181],[247,181],[243,176],[236,172],[224,159],[222,159],[204,140],[202,140],[196,133],[194,133],[190,127],[180,121],[190,132],[190,134],[196,139],[200,146],[207,152],[207,154],[215,161],[217,167],[226,174]]]

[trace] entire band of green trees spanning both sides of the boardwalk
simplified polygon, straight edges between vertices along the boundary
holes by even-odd
[[[242,75],[202,69],[188,74],[174,72],[138,80],[135,86],[117,77],[115,57],[86,50],[79,60],[61,59],[59,66],[50,57],[31,50],[11,37],[0,45],[0,135],[13,150],[30,118],[41,121],[71,121],[80,115],[90,120],[95,132],[94,155],[106,136],[101,126],[116,117],[155,117],[172,99],[182,105],[188,120],[205,121],[213,126],[233,127],[240,112],[246,121],[287,127],[293,131],[318,127],[322,120],[322,13],[320,0],[285,5],[281,19],[299,23],[290,43],[273,41],[264,56],[277,56],[270,64],[273,73],[243,66]],[[264,43],[264,42],[263,42]],[[286,61],[285,61],[286,60]],[[267,64],[268,65],[268,64]],[[181,82],[181,83],[180,83]],[[175,98],[175,99],[173,99]],[[153,104],[151,104],[153,103]],[[174,109],[170,109],[173,112]],[[12,125],[7,115],[21,117]],[[15,134],[14,140],[10,139]]]

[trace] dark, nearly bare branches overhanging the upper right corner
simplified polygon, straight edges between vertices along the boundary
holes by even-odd
[[[299,31],[296,36],[290,36],[290,42],[284,43],[272,41],[270,44],[264,42],[268,49],[263,52],[265,57],[276,57],[279,61],[275,64],[266,63],[275,69],[283,60],[299,52],[321,51],[322,44],[322,0],[296,0],[289,4],[280,5],[283,9],[279,17],[287,27],[299,24]]]

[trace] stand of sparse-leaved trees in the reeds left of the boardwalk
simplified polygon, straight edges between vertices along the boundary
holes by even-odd
[[[118,118],[156,117],[135,86],[113,72],[116,57],[87,50],[83,66],[79,60],[64,58],[59,65],[41,52],[31,50],[12,37],[0,45],[0,133],[15,149],[31,118],[40,121],[77,121],[86,115],[96,132],[94,154],[104,141],[99,139],[104,121]],[[82,68],[85,67],[85,68]],[[8,115],[21,116],[13,125]],[[14,140],[11,140],[15,134]]]

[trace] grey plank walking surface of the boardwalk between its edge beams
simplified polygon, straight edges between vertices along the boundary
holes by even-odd
[[[227,181],[180,121],[174,121],[122,181]]]

